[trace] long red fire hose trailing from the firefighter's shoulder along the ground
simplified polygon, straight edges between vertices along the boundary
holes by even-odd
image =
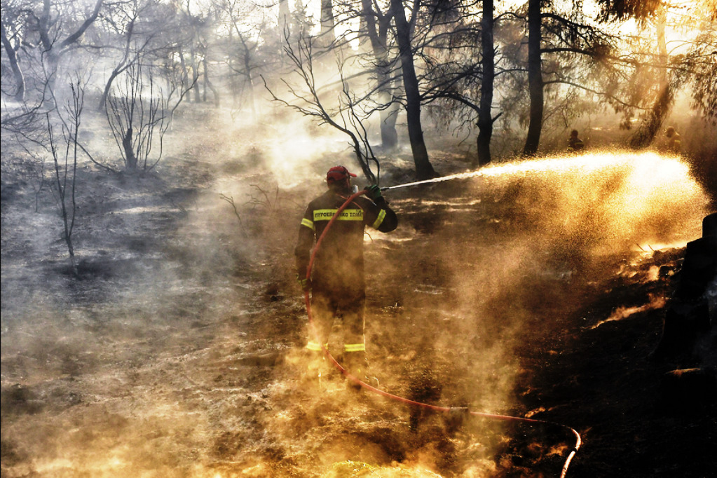
[[[387,188],[381,188],[381,191],[384,191],[385,189],[387,189]],[[348,196],[348,199],[346,199],[346,201],[341,205],[341,207],[339,207],[336,210],[336,212],[333,214],[333,217],[331,218],[331,220],[328,221],[328,224],[326,224],[326,227],[323,229],[323,232],[320,234],[319,238],[317,239],[316,245],[311,254],[309,264],[306,269],[306,279],[307,280],[310,280],[310,278],[311,278],[311,269],[313,268],[314,258],[316,257],[316,252],[318,252],[318,250],[321,246],[321,242],[323,241],[323,238],[326,236],[326,233],[328,232],[329,229],[331,229],[331,226],[333,225],[334,221],[336,221],[336,219],[341,214],[341,212],[344,209],[346,209],[346,206],[348,206],[348,204],[351,204],[351,201],[353,201],[353,199],[356,199],[357,197],[361,196],[364,193],[366,193],[366,191],[359,191],[357,193],[353,193],[351,196]],[[309,297],[309,290],[304,291],[304,298],[305,298],[305,302],[306,302],[306,313],[308,315],[309,325],[311,328],[315,328],[315,325],[313,322],[313,315],[311,314],[311,300]],[[336,358],[333,358],[333,355],[331,355],[331,353],[328,351],[328,348],[326,348],[326,345],[321,343],[322,342],[321,340],[317,340],[317,342],[320,343],[321,351],[323,352],[324,355],[326,355],[326,358],[328,358],[328,360],[333,364],[333,366],[336,367],[338,369],[338,371],[340,371],[343,374],[343,376],[348,378],[348,380],[351,380],[353,383],[356,383],[358,386],[361,386],[361,388],[366,388],[366,390],[372,391],[374,393],[378,393],[379,395],[384,396],[386,398],[391,398],[394,401],[407,403],[408,405],[411,405],[411,406],[426,408],[431,411],[454,412],[457,410],[459,410],[459,411],[463,410],[463,411],[466,411],[470,415],[480,416],[480,417],[483,417],[486,419],[497,419],[497,420],[503,420],[503,421],[518,421],[518,422],[529,423],[529,424],[542,424],[542,425],[557,426],[561,429],[566,429],[567,431],[569,431],[571,434],[573,434],[575,436],[575,446],[568,454],[568,457],[566,457],[562,472],[560,474],[561,478],[565,477],[566,473],[568,472],[568,467],[570,466],[570,462],[573,459],[573,457],[575,456],[575,454],[577,453],[577,451],[580,448],[580,445],[582,443],[580,434],[575,429],[572,429],[570,426],[567,426],[564,424],[559,424],[554,421],[526,419],[526,418],[523,418],[520,416],[488,414],[488,413],[483,413],[483,412],[478,412],[478,411],[470,411],[470,410],[467,410],[466,408],[462,408],[462,407],[456,408],[456,407],[449,407],[449,406],[431,405],[430,403],[422,403],[419,401],[411,400],[409,398],[404,398],[402,396],[394,395],[393,393],[386,392],[384,390],[381,390],[380,388],[376,388],[374,386],[369,385],[369,383],[361,381],[361,379],[356,376],[351,375],[351,373],[349,371],[347,371],[346,368],[343,368],[343,366],[340,363],[338,363]]]

